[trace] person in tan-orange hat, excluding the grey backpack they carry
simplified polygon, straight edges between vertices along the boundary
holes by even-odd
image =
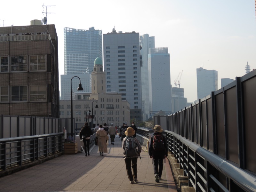
[[[140,153],[141,153],[141,146],[140,146],[139,140],[137,138],[133,137],[133,135],[135,134],[135,131],[132,129],[132,127],[128,127],[127,130],[124,132],[124,134],[127,137],[125,137],[123,142],[122,142],[122,148],[125,150],[126,140],[128,138],[133,138],[134,139],[135,145],[136,145],[136,148],[137,148],[137,153],[136,153],[135,156],[126,156],[126,155],[124,155],[124,162],[125,162],[125,166],[126,166],[128,179],[130,180],[130,183],[134,183],[134,181],[135,182],[138,181],[137,161],[138,161],[138,157],[140,156]]]

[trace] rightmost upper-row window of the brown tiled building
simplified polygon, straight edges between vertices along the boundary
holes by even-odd
[[[31,55],[29,57],[30,71],[45,71],[46,59],[45,55]]]

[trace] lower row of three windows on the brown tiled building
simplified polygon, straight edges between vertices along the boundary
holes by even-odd
[[[0,87],[0,102],[28,101],[46,101],[46,85]]]

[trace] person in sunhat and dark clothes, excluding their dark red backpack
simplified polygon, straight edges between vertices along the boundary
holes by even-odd
[[[168,146],[167,141],[164,135],[162,134],[163,129],[160,125],[155,125],[153,128],[154,134],[152,135],[150,141],[149,141],[149,147],[148,147],[148,154],[150,158],[153,158],[153,168],[154,168],[154,174],[156,178],[156,182],[158,183],[159,180],[162,180],[162,172],[163,172],[163,161],[164,158],[168,155]],[[163,138],[164,148],[163,150],[156,151],[153,148],[153,139],[156,135],[161,135]]]

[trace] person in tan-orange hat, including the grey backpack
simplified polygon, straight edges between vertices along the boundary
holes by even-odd
[[[141,153],[141,146],[139,140],[133,137],[135,131],[132,127],[128,127],[124,134],[126,137],[123,139],[122,148],[124,149],[126,172],[130,183],[134,183],[134,181],[138,182],[137,161]]]

